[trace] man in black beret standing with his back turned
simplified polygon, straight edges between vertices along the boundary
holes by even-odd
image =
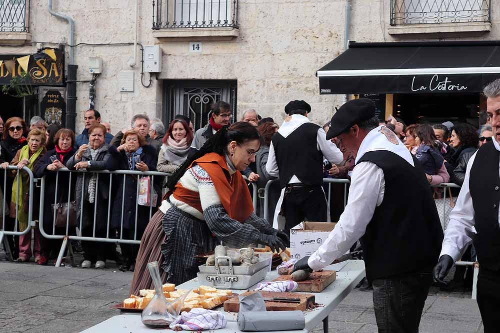
[[[326,198],[321,187],[323,156],[338,164],[343,154],[326,140],[324,130],[307,118],[311,111],[309,104],[294,100],[286,104],[284,111],[288,117],[272,136],[265,169],[269,175],[279,177],[281,187],[273,225],[283,229],[284,217],[284,231],[288,233],[305,218],[327,221]]]

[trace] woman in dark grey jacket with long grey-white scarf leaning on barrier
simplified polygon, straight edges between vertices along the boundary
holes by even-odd
[[[81,145],[66,165],[70,170],[88,171],[86,173],[78,172],[76,179],[77,221],[80,221],[81,214],[81,235],[87,237],[94,236],[94,205],[98,203],[98,209],[95,210],[94,237],[106,238],[109,175],[99,174],[97,178],[97,174],[92,173],[96,170],[114,169],[112,154],[116,154],[116,148],[105,143],[105,133],[104,125],[92,125],[88,129],[88,144]],[[95,264],[95,268],[106,267],[106,254],[112,253],[110,251],[111,243],[83,241],[81,246],[84,251],[82,268],[89,268],[92,263]]]

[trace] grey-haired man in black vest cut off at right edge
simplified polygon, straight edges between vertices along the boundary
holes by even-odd
[[[493,140],[468,161],[433,276],[436,282],[444,283],[453,263],[472,243],[479,262],[477,305],[484,332],[492,333],[500,327],[500,79],[484,87],[483,93]]]

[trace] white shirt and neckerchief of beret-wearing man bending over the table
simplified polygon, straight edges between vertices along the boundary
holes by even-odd
[[[371,130],[363,139],[356,155],[356,163],[366,152],[389,150],[414,166],[404,145],[399,140],[397,143],[390,143],[381,133],[381,127]],[[330,265],[364,235],[375,207],[382,203],[384,190],[385,180],[381,168],[367,161],[356,164],[351,174],[347,205],[326,241],[309,257],[307,263],[310,268],[318,271]]]

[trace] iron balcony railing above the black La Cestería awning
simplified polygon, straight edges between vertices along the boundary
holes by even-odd
[[[390,0],[390,24],[491,22],[491,0]]]

